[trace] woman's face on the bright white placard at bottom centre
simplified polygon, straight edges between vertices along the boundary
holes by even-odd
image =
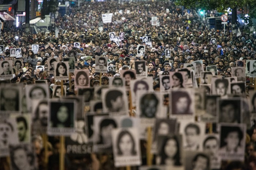
[[[132,142],[131,136],[128,134],[123,135],[119,143],[119,148],[123,153],[123,155],[124,156],[131,155],[132,147],[133,147],[133,142]]]

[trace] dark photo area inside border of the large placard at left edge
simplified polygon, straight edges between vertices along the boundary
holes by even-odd
[[[1,110],[19,111],[19,90],[16,88],[1,89]]]

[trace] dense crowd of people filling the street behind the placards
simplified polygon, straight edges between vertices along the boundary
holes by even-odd
[[[113,13],[112,23],[102,23],[101,16],[104,13]],[[158,26],[151,25],[152,16],[157,16],[159,22]],[[215,11],[207,11],[204,17],[216,16],[220,16],[220,14]],[[59,28],[57,36],[54,32],[55,27]],[[99,31],[99,27],[103,27],[103,30]],[[115,35],[124,32],[124,40],[120,40],[118,43],[116,41],[110,41],[110,32],[115,32]],[[162,37],[159,36],[159,33]],[[18,38],[16,36],[18,36]],[[143,37],[145,36],[151,36],[152,45],[147,45],[146,42],[143,41]],[[212,41],[212,39],[215,39],[216,42]],[[80,46],[74,45],[74,43],[77,42],[79,42]],[[37,54],[34,52],[37,50],[33,50],[32,48],[33,44],[38,44]],[[144,55],[137,55],[137,47],[139,45],[145,45]],[[171,72],[184,68],[186,63],[193,63],[200,60],[200,62],[202,61],[203,63],[203,68],[199,68],[200,64],[198,65],[198,68],[202,69],[198,70],[199,75],[200,71],[206,71],[207,66],[217,66],[216,75],[221,75],[223,78],[237,76],[237,81],[241,80],[246,82],[246,90],[253,89],[252,79],[249,77],[242,79],[240,76],[241,72],[238,70],[235,72],[236,75],[233,75],[231,68],[238,66],[245,67],[245,65],[240,65],[242,61],[255,59],[256,35],[254,33],[247,33],[245,29],[241,27],[241,35],[237,36],[236,33],[232,32],[231,24],[227,25],[226,34],[224,34],[222,29],[210,29],[209,25],[207,25],[205,21],[202,21],[201,17],[198,17],[196,9],[184,9],[184,7],[177,6],[173,1],[168,0],[80,2],[80,8],[78,8],[78,5],[68,7],[67,13],[64,16],[57,17],[54,27],[51,27],[50,31],[47,33],[39,32],[37,34],[26,34],[19,27],[4,27],[1,31],[0,46],[4,46],[0,54],[0,61],[12,60],[13,66],[16,68],[13,70],[14,74],[10,82],[8,82],[8,79],[4,78],[1,79],[2,82],[22,84],[23,87],[26,87],[29,84],[35,84],[36,80],[46,80],[51,92],[50,96],[56,96],[53,92],[53,85],[60,84],[60,80],[54,79],[53,72],[49,72],[53,70],[54,66],[52,63],[48,63],[48,59],[55,58],[62,62],[67,61],[67,58],[72,56],[77,60],[75,61],[76,64],[73,69],[89,70],[90,82],[84,82],[85,79],[81,80],[81,86],[83,86],[83,84],[89,84],[90,87],[101,85],[108,86],[111,78],[115,78],[114,80],[118,81],[122,70],[135,70],[135,67],[137,67],[135,66],[135,61],[145,61],[146,66],[144,67],[147,67],[147,72],[144,72],[145,69],[142,65],[138,66],[141,67],[141,69],[137,70],[137,74],[146,74],[148,77],[152,77],[153,89],[155,91],[160,91],[161,83],[163,84],[163,89],[167,91],[173,87],[183,88],[184,84],[180,73],[176,72],[176,74],[172,75],[173,81],[175,79],[182,79],[182,82],[173,83],[173,86],[170,85],[169,75],[172,74]],[[11,56],[10,51],[12,51],[12,48],[20,48],[21,57],[20,55],[16,55],[19,57]],[[166,50],[169,50],[170,58],[166,58]],[[108,66],[111,67],[108,67],[107,72],[103,72],[102,74],[95,72],[97,69],[95,65],[97,56],[108,58]],[[101,58],[99,61],[100,60]],[[7,69],[8,64],[10,64],[10,62],[6,62],[6,66],[5,64],[1,66],[4,75],[11,74],[11,71]],[[138,65],[140,64],[142,63]],[[41,70],[40,68],[36,68],[37,66],[44,66],[44,68]],[[58,65],[57,67],[59,68]],[[63,67],[67,70],[67,65],[64,64]],[[105,70],[105,66],[102,66],[102,69]],[[251,74],[253,74],[253,72]],[[167,79],[161,78],[161,82],[160,77],[162,75],[166,75]],[[197,75],[197,65],[195,65],[195,75]],[[70,75],[64,76],[69,76],[69,79],[64,81],[65,85],[67,85],[64,90],[65,95],[76,95],[78,91],[74,86],[74,73],[71,72]],[[85,78],[87,75],[84,74],[82,76]],[[202,84],[210,84],[207,82],[207,76],[203,76],[202,79],[205,82]],[[79,82],[76,82],[76,84],[79,84]],[[114,85],[114,81],[112,85]],[[218,89],[217,86],[218,85],[216,85],[216,88]],[[248,95],[248,91],[246,91],[245,96]],[[182,98],[182,96],[177,94],[175,99],[178,100],[178,98]],[[146,99],[145,101],[147,101]],[[112,100],[109,102],[112,104]],[[189,99],[189,104],[191,102],[191,99]],[[181,102],[181,105],[182,103],[184,103],[184,101]],[[188,103],[188,101],[186,100],[185,103]],[[185,107],[185,105],[183,106]],[[146,108],[142,111],[146,111],[150,107],[152,106],[146,105]],[[180,108],[180,106],[177,107]],[[121,108],[118,108],[117,111],[120,111],[119,109],[121,110]],[[189,114],[189,112],[191,112],[189,109],[189,107],[186,107],[180,111],[180,114]],[[175,108],[173,108],[173,110],[177,111]],[[247,135],[249,139],[246,140],[246,150],[244,150],[246,159],[244,163],[236,161],[230,164],[223,163],[221,169],[256,169],[255,134],[256,129],[248,129]],[[131,134],[129,134],[129,137],[130,136]],[[240,137],[240,141],[241,138],[242,137]],[[168,143],[169,140],[174,141],[176,143],[175,145],[180,149],[178,146],[181,145],[181,143],[179,144],[179,138],[166,137],[165,143]],[[58,153],[58,139],[54,137],[50,139],[50,142],[51,143],[48,143],[49,153]],[[35,148],[39,148],[39,151],[36,151],[39,167],[41,169],[56,168],[56,162],[54,163],[53,160],[57,160],[57,157],[51,157],[53,159],[49,160],[49,167],[47,167],[43,159],[44,149],[42,145],[38,143],[42,144],[42,139],[40,137],[34,137]],[[142,146],[144,146],[143,144],[145,145],[145,143],[142,142]],[[165,146],[165,144],[163,146]],[[241,147],[239,147],[239,149],[241,150]],[[162,148],[162,150],[164,150],[164,148]],[[146,156],[145,151],[142,151],[142,157],[143,155]],[[204,157],[205,155],[197,155],[195,160],[193,160],[195,164],[197,159],[199,159],[197,157],[200,156]],[[167,157],[168,156],[165,155],[165,158],[162,158],[159,164],[164,165],[170,161],[167,160]],[[181,165],[180,155],[178,155],[178,158],[179,159],[175,160],[175,163]],[[66,166],[70,168],[72,168],[72,166],[73,168],[79,167],[80,169],[92,168],[95,170],[115,169],[113,157],[109,154],[87,155],[86,159],[79,159],[80,162],[76,162],[76,166],[72,165],[72,163],[75,163],[74,160],[75,158],[68,159],[65,157]],[[209,160],[206,161],[209,162]],[[157,158],[153,162],[157,162]],[[144,161],[143,164],[145,165],[146,161]],[[6,169],[3,164],[2,167]],[[136,169],[137,167],[133,168]],[[197,168],[199,167],[194,167],[194,169]],[[191,167],[191,169],[193,168]]]

